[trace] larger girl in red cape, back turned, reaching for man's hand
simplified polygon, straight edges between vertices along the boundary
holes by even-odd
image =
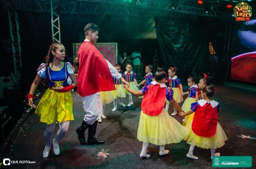
[[[178,143],[188,135],[186,127],[182,126],[175,118],[169,116],[164,109],[165,100],[170,102],[179,112],[180,106],[173,98],[173,90],[165,85],[166,72],[158,68],[155,80],[151,85],[145,85],[140,91],[130,89],[127,91],[135,96],[143,96],[137,138],[143,142],[140,157],[149,158],[147,148],[149,143],[159,145],[159,155],[166,155],[166,144]]]

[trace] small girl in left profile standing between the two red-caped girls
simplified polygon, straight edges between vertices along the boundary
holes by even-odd
[[[190,109],[191,103],[195,103],[197,101],[198,86],[196,84],[196,77],[191,77],[191,76],[188,77],[188,87],[189,87],[188,92],[183,93],[183,94],[188,94],[186,100],[184,101],[181,107],[181,109],[184,112],[187,112]],[[193,117],[194,117],[194,114],[186,116],[183,119],[182,125],[186,126],[188,120],[192,120]]]

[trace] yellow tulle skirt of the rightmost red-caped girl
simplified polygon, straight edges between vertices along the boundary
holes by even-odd
[[[196,135],[191,129],[192,122],[193,120],[186,125],[186,128],[189,129],[189,134],[184,140],[186,140],[188,144],[194,145],[203,149],[210,149],[210,148],[216,149],[225,145],[225,141],[228,138],[224,130],[220,126],[219,122],[217,123],[216,134],[213,137],[201,137]]]

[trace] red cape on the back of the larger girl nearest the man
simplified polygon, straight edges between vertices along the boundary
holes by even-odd
[[[166,99],[166,87],[159,84],[151,84],[141,102],[141,110],[150,116],[158,116],[164,106]]]

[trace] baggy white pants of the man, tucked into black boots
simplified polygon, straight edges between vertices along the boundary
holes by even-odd
[[[86,112],[85,122],[92,125],[96,120],[99,120],[102,115],[102,102],[100,98],[100,92],[92,94],[90,96],[83,96],[83,109]]]

